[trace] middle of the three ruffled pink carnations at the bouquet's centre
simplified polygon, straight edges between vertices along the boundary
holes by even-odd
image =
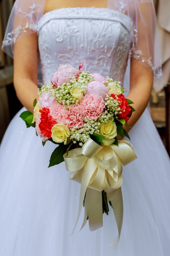
[[[84,117],[86,117],[86,113],[84,112],[83,106],[77,105],[71,105],[68,111],[68,117],[63,118],[64,124],[68,128],[76,128],[78,126],[79,128],[84,126]]]

